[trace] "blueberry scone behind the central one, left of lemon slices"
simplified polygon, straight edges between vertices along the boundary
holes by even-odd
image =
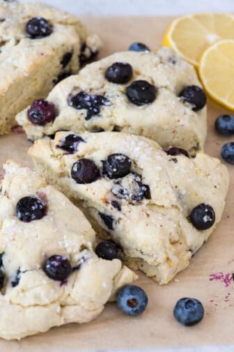
[[[57,85],[45,103],[45,110],[33,104],[17,115],[29,139],[56,131],[122,131],[192,155],[205,142],[201,83],[194,68],[167,47],[120,52],[87,65]]]

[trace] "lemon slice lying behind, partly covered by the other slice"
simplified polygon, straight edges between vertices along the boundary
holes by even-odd
[[[184,59],[198,66],[201,54],[210,45],[223,39],[234,39],[234,15],[194,13],[171,23],[163,45],[173,47]]]

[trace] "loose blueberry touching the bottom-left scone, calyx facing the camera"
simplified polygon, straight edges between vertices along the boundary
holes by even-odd
[[[127,285],[117,296],[118,308],[129,316],[138,316],[148,305],[148,297],[139,286]]]

